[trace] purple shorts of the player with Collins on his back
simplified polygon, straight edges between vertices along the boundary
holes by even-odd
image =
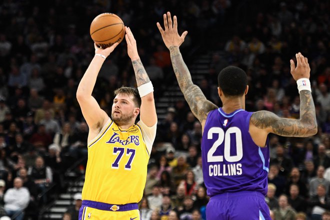
[[[207,220],[271,220],[260,192],[226,192],[212,196],[206,205]]]

